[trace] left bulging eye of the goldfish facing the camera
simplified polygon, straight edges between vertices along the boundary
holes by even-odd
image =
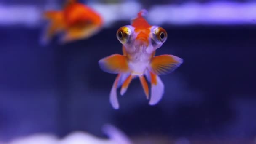
[[[120,27],[117,30],[117,39],[120,41],[120,43],[125,44],[128,42],[129,38],[131,36],[131,29],[128,27]]]

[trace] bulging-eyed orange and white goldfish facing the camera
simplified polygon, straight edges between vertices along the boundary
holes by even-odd
[[[167,39],[167,32],[162,27],[149,25],[143,18],[146,13],[146,10],[141,10],[137,18],[131,21],[131,25],[117,30],[117,39],[123,44],[123,55],[113,54],[99,60],[103,71],[118,74],[110,92],[110,103],[114,109],[119,108],[117,88],[122,85],[120,94],[123,95],[135,77],[139,77],[149,99],[149,87],[144,75],[151,83],[149,104],[157,104],[164,93],[164,85],[158,75],[172,72],[183,62],[173,55],[155,56],[156,49]]]

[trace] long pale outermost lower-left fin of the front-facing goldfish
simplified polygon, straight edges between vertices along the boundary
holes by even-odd
[[[121,76],[120,74],[117,75],[117,77],[113,83],[113,86],[111,88],[111,91],[110,91],[109,101],[114,109],[119,108],[119,104],[118,104],[118,100],[117,100],[117,84],[120,79],[120,76]]]

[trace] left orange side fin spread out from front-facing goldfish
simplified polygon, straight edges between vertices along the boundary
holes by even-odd
[[[129,72],[127,58],[120,54],[113,54],[99,60],[99,66],[104,72],[111,74]]]

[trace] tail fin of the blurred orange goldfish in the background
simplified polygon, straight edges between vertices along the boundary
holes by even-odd
[[[47,45],[49,40],[63,28],[63,18],[61,11],[46,11],[43,17],[49,21],[49,24],[43,32],[41,43]]]

